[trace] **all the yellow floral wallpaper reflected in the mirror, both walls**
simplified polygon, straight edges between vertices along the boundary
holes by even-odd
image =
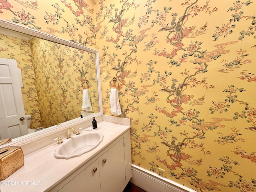
[[[98,112],[94,54],[40,38],[0,37],[0,57],[16,59],[22,70],[22,97],[25,113],[32,116],[30,128],[78,118],[87,88],[92,112]]]

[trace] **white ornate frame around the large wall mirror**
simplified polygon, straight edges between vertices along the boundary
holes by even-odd
[[[52,41],[52,42],[56,42],[56,43],[59,43],[59,44],[70,46],[70,47],[73,47],[73,48],[84,50],[84,51],[87,51],[87,52],[90,52],[90,53],[94,53],[95,54],[95,62],[96,62],[98,102],[99,102],[99,111],[100,111],[100,112],[94,114],[94,117],[102,116],[103,107],[102,107],[102,92],[101,92],[101,81],[100,81],[100,60],[99,60],[98,50],[94,50],[92,48],[88,48],[86,46],[82,46],[82,45],[76,44],[74,42],[70,42],[70,41],[67,41],[67,40],[52,36],[50,34],[46,34],[46,33],[34,30],[34,29],[26,28],[24,26],[20,26],[18,24],[11,23],[11,22],[8,22],[8,21],[2,20],[2,19],[0,19],[0,26],[3,27],[3,28],[7,28],[7,29],[10,29],[10,30],[14,30],[14,31],[17,31],[17,32],[21,32],[21,33],[24,33],[24,34],[35,36],[35,37],[42,38],[42,39],[45,39],[45,40],[49,40],[49,41]],[[83,122],[85,122],[85,121],[87,121],[91,118],[92,118],[92,116],[84,117],[84,118],[81,118],[80,120],[76,120],[74,122],[72,122],[72,120],[70,120],[71,121],[70,123],[66,123],[64,125],[56,126],[56,127],[53,127],[53,128],[51,127],[49,129],[45,129],[43,131],[38,131],[38,133],[36,133],[36,134],[33,134],[31,136],[28,135],[24,138],[21,138],[19,140],[14,141],[14,142],[4,144],[0,147],[10,146],[10,145],[14,145],[14,146],[15,145],[22,145],[22,144],[25,144],[27,142],[32,142],[32,141],[34,141],[38,138],[42,138],[44,136],[48,136],[49,134],[58,132],[60,130],[64,130],[64,129],[70,127],[70,126],[75,126],[77,124],[81,124],[81,123],[83,123]]]

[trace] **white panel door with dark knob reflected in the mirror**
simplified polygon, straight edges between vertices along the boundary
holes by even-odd
[[[0,138],[28,134],[17,62],[0,58]]]

